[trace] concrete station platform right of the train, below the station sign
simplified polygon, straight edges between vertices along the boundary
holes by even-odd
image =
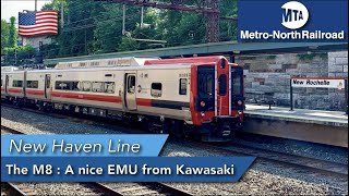
[[[246,105],[243,132],[348,148],[348,115],[323,111]]]

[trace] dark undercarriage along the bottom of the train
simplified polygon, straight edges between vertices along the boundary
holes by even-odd
[[[218,117],[210,123],[203,123],[197,126],[188,121],[163,115],[155,117],[86,106],[51,103],[17,97],[5,97],[2,98],[2,101],[16,107],[29,107],[46,112],[79,117],[98,117],[105,120],[112,119],[132,126],[135,125],[153,134],[171,134],[176,137],[188,137],[202,142],[229,142],[234,136],[234,131],[242,128],[240,119],[232,117]]]

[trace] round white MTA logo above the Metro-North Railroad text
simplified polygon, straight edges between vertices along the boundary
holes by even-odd
[[[282,7],[282,25],[289,29],[298,29],[305,25],[309,20],[309,12],[304,4],[298,1],[290,1]]]

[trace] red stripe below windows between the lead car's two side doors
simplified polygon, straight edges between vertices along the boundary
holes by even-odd
[[[121,97],[111,96],[111,95],[104,96],[104,95],[52,91],[51,96],[60,97],[60,98],[68,98],[68,99],[94,100],[94,101],[104,101],[104,102],[121,102]]]

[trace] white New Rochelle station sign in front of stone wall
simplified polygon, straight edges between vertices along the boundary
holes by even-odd
[[[305,77],[292,77],[292,87],[304,88],[345,88],[344,78],[305,78]]]

